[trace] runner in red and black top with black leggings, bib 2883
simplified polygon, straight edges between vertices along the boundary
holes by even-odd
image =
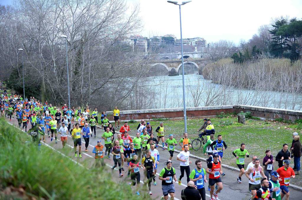
[[[138,189],[140,187],[140,167],[141,164],[137,159],[137,155],[133,155],[133,159],[130,161],[129,168],[128,168],[128,172],[130,173],[130,178],[132,180],[132,183],[128,183],[128,185],[135,186],[135,184],[137,183],[136,186],[137,191],[135,192],[136,195],[140,195],[140,192],[138,192]]]

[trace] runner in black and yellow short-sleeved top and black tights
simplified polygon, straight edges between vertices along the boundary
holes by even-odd
[[[155,167],[155,159],[151,156],[151,152],[149,149],[146,150],[146,156],[142,159],[142,167],[145,171],[145,175],[147,177],[149,195],[152,195],[151,192],[151,183],[154,176],[154,167]]]

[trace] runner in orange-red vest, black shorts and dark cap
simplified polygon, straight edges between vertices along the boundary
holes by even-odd
[[[213,153],[213,161],[207,164],[206,172],[209,173],[209,185],[211,186],[210,190],[210,200],[213,200],[213,195],[216,200],[219,200],[217,193],[220,192],[223,188],[220,174],[222,174],[222,167],[220,165],[218,153]],[[218,185],[218,189],[214,192],[215,183]]]

